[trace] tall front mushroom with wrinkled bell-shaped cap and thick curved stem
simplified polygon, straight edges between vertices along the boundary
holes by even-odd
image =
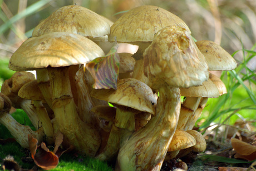
[[[159,91],[156,114],[120,149],[121,170],[160,170],[179,119],[179,87],[199,86],[209,75],[189,32],[176,26],[155,34],[144,52],[144,67],[149,86]]]

